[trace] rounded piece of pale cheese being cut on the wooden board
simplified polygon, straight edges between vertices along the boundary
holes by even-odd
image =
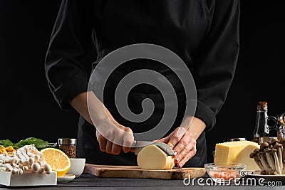
[[[162,149],[151,144],[138,153],[138,167],[141,169],[172,169],[175,157],[168,156]]]

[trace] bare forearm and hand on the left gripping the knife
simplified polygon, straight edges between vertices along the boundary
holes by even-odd
[[[70,103],[96,127],[101,151],[109,154],[120,154],[122,149],[124,152],[130,151],[134,139],[132,130],[120,125],[92,91],[77,95]]]

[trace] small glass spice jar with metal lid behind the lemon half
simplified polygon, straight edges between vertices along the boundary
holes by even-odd
[[[66,153],[69,158],[76,158],[76,145],[77,139],[58,139],[58,148]]]

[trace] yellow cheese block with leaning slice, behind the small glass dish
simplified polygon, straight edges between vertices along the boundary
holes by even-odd
[[[247,170],[258,170],[259,167],[254,159],[249,158],[249,154],[259,149],[256,142],[236,141],[216,144],[214,152],[214,163],[235,162],[247,164]]]

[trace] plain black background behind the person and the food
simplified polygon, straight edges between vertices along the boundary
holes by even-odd
[[[43,68],[60,4],[59,0],[0,2],[0,139],[39,137],[56,142],[58,137],[76,137],[78,114],[60,110]],[[269,102],[269,115],[285,112],[284,6],[281,1],[257,0],[241,5],[236,75],[217,125],[207,134],[209,153],[215,143],[232,137],[252,139],[259,100]],[[83,60],[87,70],[94,59],[90,48]]]

